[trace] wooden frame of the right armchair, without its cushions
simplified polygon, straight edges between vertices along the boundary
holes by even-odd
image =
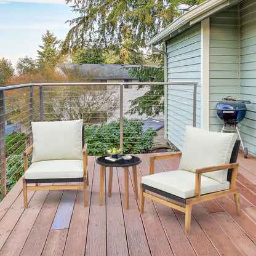
[[[213,167],[196,169],[196,183],[195,183],[195,191],[194,191],[193,198],[187,198],[187,199],[180,198],[178,196],[175,196],[174,194],[170,194],[165,191],[158,190],[151,186],[140,183],[140,214],[143,214],[144,212],[145,198],[153,199],[154,201],[161,202],[162,204],[172,207],[173,209],[180,210],[181,212],[185,213],[185,234],[188,235],[190,234],[191,208],[193,204],[198,204],[199,202],[205,202],[215,198],[221,198],[223,196],[234,194],[234,201],[236,203],[236,213],[238,215],[241,215],[240,202],[239,202],[239,189],[234,187],[236,184],[236,176],[238,174],[238,163],[235,163],[235,162],[238,156],[239,144],[240,142],[237,141],[233,149],[233,153],[230,160],[231,162],[234,161],[233,163],[223,164],[221,166],[213,166]],[[167,158],[180,158],[181,156],[182,156],[181,152],[162,154],[159,156],[152,156],[150,158],[150,175],[154,174],[154,161],[167,159]],[[201,195],[201,174],[204,174],[206,172],[214,172],[215,170],[223,170],[223,169],[228,169],[228,173],[229,173],[228,180],[230,176],[230,180],[229,180],[230,188],[228,190],[222,190],[222,191]],[[172,202],[168,201],[167,199],[160,198],[159,196],[150,194],[146,192],[146,190],[156,194],[160,194],[161,196],[164,196],[168,199],[172,199]],[[178,203],[182,203],[182,204],[178,204]]]

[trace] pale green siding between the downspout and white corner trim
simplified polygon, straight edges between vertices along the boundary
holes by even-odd
[[[197,126],[200,127],[201,25],[167,42],[168,81],[199,82]],[[193,124],[193,86],[167,90],[167,138],[182,150],[185,126]]]

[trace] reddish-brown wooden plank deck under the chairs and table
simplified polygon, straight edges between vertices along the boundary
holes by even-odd
[[[151,154],[139,154],[138,183],[148,175]],[[242,215],[233,198],[220,198],[192,207],[191,233],[185,217],[149,199],[139,214],[132,170],[129,210],[124,204],[124,171],[114,169],[112,196],[98,206],[100,166],[89,157],[89,206],[82,190],[28,191],[23,209],[22,180],[0,203],[0,255],[256,255],[256,158],[239,153]],[[156,172],[178,167],[178,159],[156,163]],[[108,168],[106,170],[108,184]]]

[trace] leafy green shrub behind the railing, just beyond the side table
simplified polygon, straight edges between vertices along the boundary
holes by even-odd
[[[142,130],[143,121],[140,119],[124,119],[123,121],[123,153],[149,153],[153,146],[156,132],[153,129]],[[98,156],[106,154],[110,148],[119,148],[120,121],[108,124],[86,126],[84,129],[85,142],[88,144],[88,154]]]

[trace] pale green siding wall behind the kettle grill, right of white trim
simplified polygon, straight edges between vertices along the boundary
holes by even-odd
[[[231,95],[250,100],[240,123],[249,153],[256,155],[256,2],[247,0],[210,18],[210,130],[219,131],[215,105]]]

